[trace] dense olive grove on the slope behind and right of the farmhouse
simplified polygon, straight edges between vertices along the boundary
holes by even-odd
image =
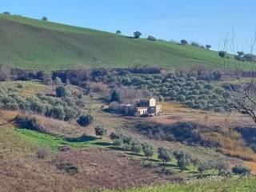
[[[218,81],[222,78],[222,74],[215,71],[211,74],[210,78]],[[223,106],[223,103],[226,106],[232,105],[230,94],[227,91],[214,86],[207,79],[204,80],[202,77],[197,79],[191,77],[190,74],[179,72],[170,73],[166,76],[158,74],[130,74],[125,77],[118,77],[117,81],[122,83],[123,86],[135,86],[140,90],[149,90],[159,98],[180,102],[194,109],[221,112],[228,110]],[[114,91],[110,98],[110,102],[120,101],[121,95]]]

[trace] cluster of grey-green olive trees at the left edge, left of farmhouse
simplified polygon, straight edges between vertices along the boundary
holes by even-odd
[[[56,94],[60,98],[39,93],[25,97],[19,93],[17,87],[0,86],[0,109],[33,111],[35,114],[44,114],[47,117],[68,121],[77,118],[86,103],[82,96],[67,97],[67,92],[69,91],[66,87],[58,86]]]

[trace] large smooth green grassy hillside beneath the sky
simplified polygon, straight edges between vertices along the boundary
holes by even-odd
[[[0,14],[0,62],[14,67],[66,69],[127,67],[166,68],[215,65],[217,53],[173,42],[150,42],[99,30]],[[218,60],[218,59],[217,59]]]

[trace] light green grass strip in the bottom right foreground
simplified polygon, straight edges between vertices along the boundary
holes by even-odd
[[[187,183],[174,183],[162,186],[148,186],[141,189],[122,190],[125,192],[253,192],[256,178],[207,178]],[[110,190],[106,190],[110,192]]]

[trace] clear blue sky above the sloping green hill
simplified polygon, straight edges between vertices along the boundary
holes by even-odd
[[[0,11],[51,22],[167,41],[249,52],[256,33],[255,0],[0,0]],[[231,39],[234,39],[233,41]],[[233,43],[231,43],[233,42]],[[234,45],[234,46],[233,46]]]

